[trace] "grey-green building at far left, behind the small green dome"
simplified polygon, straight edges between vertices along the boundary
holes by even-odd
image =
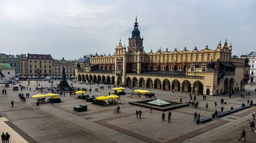
[[[10,64],[11,68],[15,69],[15,77],[20,76],[20,55],[7,55],[5,53],[0,53],[0,58],[5,57],[6,63]]]

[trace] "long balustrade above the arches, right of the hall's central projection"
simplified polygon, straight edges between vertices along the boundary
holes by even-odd
[[[138,74],[138,73],[126,73],[126,76],[151,76],[151,77],[166,77],[166,78],[204,79],[204,76]]]

